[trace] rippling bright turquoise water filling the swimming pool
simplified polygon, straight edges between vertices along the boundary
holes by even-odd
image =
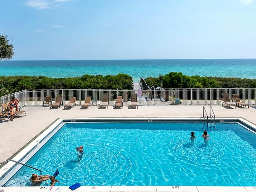
[[[204,140],[206,129],[202,123],[66,123],[27,164],[43,174],[59,168],[62,186],[255,186],[256,135],[237,123],[216,123]],[[29,185],[33,173],[22,167],[5,186]]]

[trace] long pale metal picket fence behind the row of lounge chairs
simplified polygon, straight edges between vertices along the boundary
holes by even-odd
[[[55,89],[55,90],[23,90],[0,97],[0,104],[9,102],[13,96],[20,100],[19,106],[40,106],[46,96],[61,95],[66,104],[70,97],[75,96],[77,104],[83,104],[87,96],[92,100],[101,102],[101,96],[108,93],[110,105],[115,104],[117,96],[123,96],[124,105],[130,105],[132,93],[137,93],[139,105],[218,105],[221,104],[222,93],[228,93],[232,100],[233,94],[238,94],[240,99],[249,105],[256,104],[256,89]]]

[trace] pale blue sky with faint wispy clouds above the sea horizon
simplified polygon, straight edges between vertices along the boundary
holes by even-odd
[[[13,60],[256,58],[256,0],[0,0]]]

